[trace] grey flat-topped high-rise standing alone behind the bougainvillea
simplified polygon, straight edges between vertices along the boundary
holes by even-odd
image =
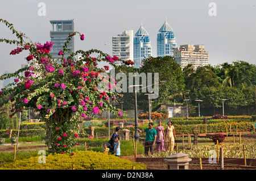
[[[51,41],[54,43],[51,49],[51,56],[53,58],[59,58],[58,53],[60,50],[63,50],[63,46],[67,41],[69,33],[74,32],[74,22],[73,20],[50,20],[52,24],[52,30],[50,31]],[[71,42],[68,44],[68,49],[72,52],[74,51],[74,39],[72,38]],[[69,53],[65,53],[67,58]]]

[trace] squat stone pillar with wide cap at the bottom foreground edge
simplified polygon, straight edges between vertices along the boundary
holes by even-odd
[[[164,162],[168,165],[168,170],[188,170],[191,160],[188,154],[175,153],[164,159]]]

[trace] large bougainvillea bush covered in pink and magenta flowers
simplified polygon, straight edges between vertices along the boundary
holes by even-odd
[[[115,80],[102,77],[109,66],[97,68],[97,62],[106,61],[114,66],[118,57],[110,57],[100,50],[67,49],[69,42],[79,32],[69,33],[59,58],[53,59],[50,52],[53,43],[33,43],[23,33],[16,31],[13,24],[0,19],[18,40],[0,39],[0,42],[15,44],[18,47],[11,50],[10,56],[29,51],[26,61],[31,62],[28,68],[22,68],[13,74],[3,74],[0,79],[14,77],[14,82],[0,91],[1,95],[9,95],[11,106],[10,117],[22,112],[24,108],[33,108],[40,113],[40,119],[47,125],[47,140],[53,153],[68,153],[76,145],[77,134],[73,131],[79,123],[79,117],[98,114],[106,109],[111,112],[117,108],[109,104],[118,94],[115,90]],[[27,40],[30,40],[26,42]],[[65,53],[70,56],[65,58]],[[97,54],[97,57],[91,57]],[[80,56],[79,58],[78,55]],[[23,74],[22,74],[23,73]],[[104,87],[97,85],[104,82]],[[105,91],[108,90],[108,91]]]

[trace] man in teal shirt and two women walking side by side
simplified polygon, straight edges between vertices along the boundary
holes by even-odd
[[[158,126],[153,128],[153,123],[148,123],[148,128],[138,130],[138,132],[146,132],[146,140],[144,144],[144,154],[148,155],[154,153],[154,146],[156,144],[156,151],[171,151],[174,150],[174,140],[176,139],[175,129],[172,121],[168,121],[166,128],[162,126],[162,121],[158,121]]]

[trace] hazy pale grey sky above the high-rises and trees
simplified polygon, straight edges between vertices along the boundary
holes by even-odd
[[[45,11],[41,11],[40,2],[46,5]],[[142,22],[150,36],[153,57],[158,31],[167,18],[177,46],[203,44],[210,65],[238,60],[256,64],[255,0],[1,0],[0,18],[13,23],[15,30],[34,43],[42,44],[51,41],[50,20],[73,19],[75,31],[85,35],[84,41],[75,37],[75,50],[98,49],[110,56],[112,36],[124,30],[135,34]],[[0,38],[16,39],[3,24]],[[28,51],[10,55],[15,48],[0,43],[0,74],[18,70],[26,63]]]

